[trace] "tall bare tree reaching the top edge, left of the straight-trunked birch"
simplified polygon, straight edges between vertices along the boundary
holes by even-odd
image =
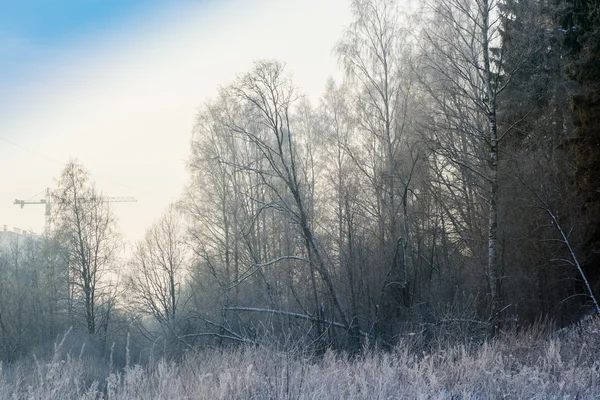
[[[354,21],[335,47],[354,126],[341,145],[368,193],[361,203],[378,240],[371,307],[383,322],[411,305],[411,213],[422,156],[413,128],[410,35],[401,28],[398,2],[355,0],[351,7]]]

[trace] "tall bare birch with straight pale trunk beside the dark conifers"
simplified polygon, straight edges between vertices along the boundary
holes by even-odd
[[[493,314],[502,305],[498,202],[500,144],[516,121],[499,121],[499,96],[536,49],[523,41],[505,62],[505,22],[512,16],[499,0],[435,0],[422,32],[419,70],[429,95],[426,135],[437,157],[440,188],[462,204],[447,210],[457,234],[472,244],[485,236],[485,273]],[[462,209],[460,209],[462,207]],[[485,233],[476,232],[485,218]],[[483,259],[484,257],[482,257]]]

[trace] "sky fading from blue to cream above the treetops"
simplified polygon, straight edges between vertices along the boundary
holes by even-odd
[[[284,61],[316,103],[348,0],[0,0],[0,229],[42,233],[36,201],[77,159],[134,243],[188,180],[195,115],[252,63]]]

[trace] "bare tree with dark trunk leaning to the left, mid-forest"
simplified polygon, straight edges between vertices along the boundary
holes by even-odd
[[[250,73],[227,89],[227,94],[238,109],[244,110],[243,114],[227,116],[227,128],[254,147],[260,168],[250,169],[267,191],[269,207],[289,218],[301,234],[317,313],[322,315],[324,311],[318,295],[318,274],[337,317],[349,326],[327,258],[313,228],[310,174],[303,169],[307,165],[303,165],[298,150],[302,132],[293,126],[291,115],[298,96],[283,64],[274,61],[256,63]],[[244,165],[236,168],[248,170]]]

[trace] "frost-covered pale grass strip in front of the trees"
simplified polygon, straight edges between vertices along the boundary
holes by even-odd
[[[81,356],[4,367],[0,399],[597,399],[600,320],[533,328],[428,353],[398,346],[349,358],[264,347],[209,350],[129,366],[104,381]],[[60,348],[57,348],[60,354]]]

